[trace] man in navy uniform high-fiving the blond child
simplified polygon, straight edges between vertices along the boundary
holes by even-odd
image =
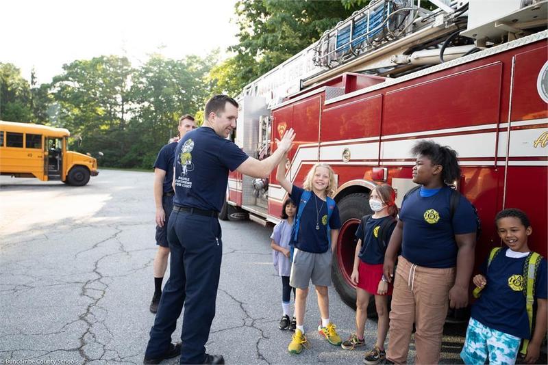
[[[286,131],[277,150],[262,161],[247,156],[227,137],[236,128],[238,103],[226,95],[206,103],[203,126],[186,135],[175,150],[173,212],[168,223],[171,273],[150,331],[145,364],[181,355],[181,364],[224,364],[205,344],[215,316],[223,241],[217,215],[223,206],[229,170],[264,178],[290,150]],[[171,334],[184,305],[182,344]]]

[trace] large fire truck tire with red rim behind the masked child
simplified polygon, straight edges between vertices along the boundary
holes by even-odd
[[[373,213],[369,208],[368,193],[352,193],[345,196],[337,204],[340,214],[340,222],[343,226],[337,242],[336,252],[333,254],[333,264],[331,277],[340,299],[347,306],[356,309],[356,286],[351,284],[349,278],[352,273],[352,262],[356,252],[358,239],[354,236],[360,219]],[[344,271],[344,272],[343,272]],[[371,295],[369,306],[367,307],[367,316],[377,316],[375,309],[375,297]]]

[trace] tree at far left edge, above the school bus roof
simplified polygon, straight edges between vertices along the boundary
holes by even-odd
[[[31,122],[29,82],[13,64],[0,63],[0,120]]]

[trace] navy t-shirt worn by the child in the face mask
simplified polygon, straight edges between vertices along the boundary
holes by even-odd
[[[386,247],[381,249],[383,244],[379,242],[381,239],[379,236],[379,228],[387,219],[390,219],[390,221],[394,220],[393,217],[387,215],[382,218],[369,217],[365,224],[363,224],[363,219],[360,221],[360,226],[358,226],[358,229],[356,230],[356,238],[362,240],[362,248],[360,249],[358,257],[366,264],[379,265],[384,262],[384,252],[386,252]],[[388,235],[386,236],[387,245],[388,241],[390,241],[390,236],[392,236],[392,232],[394,232],[395,226],[396,225],[393,224],[386,227],[388,230]]]

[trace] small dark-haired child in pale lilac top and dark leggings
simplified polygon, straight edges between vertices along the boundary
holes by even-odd
[[[282,205],[282,221],[274,226],[270,238],[272,247],[272,257],[274,267],[279,276],[282,277],[282,310],[284,314],[279,320],[279,329],[290,329],[295,331],[297,325],[295,316],[289,319],[289,301],[291,299],[291,290],[295,295],[295,288],[289,285],[289,274],[291,271],[290,247],[291,232],[295,221],[297,206],[290,199],[287,199]]]

